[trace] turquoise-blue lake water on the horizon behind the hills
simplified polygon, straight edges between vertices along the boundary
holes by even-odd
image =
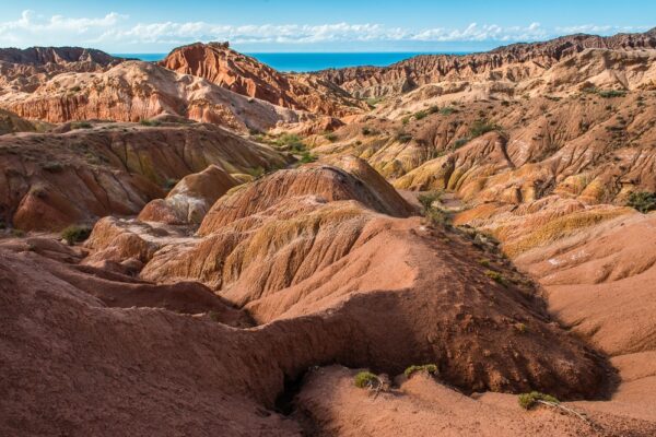
[[[167,54],[114,54],[142,61],[159,61]],[[465,52],[350,52],[350,54],[246,54],[279,71],[317,71],[358,66],[386,67],[418,55],[466,55]]]

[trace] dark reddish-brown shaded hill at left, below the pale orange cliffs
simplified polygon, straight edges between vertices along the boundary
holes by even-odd
[[[171,181],[208,165],[233,174],[285,165],[276,151],[209,125],[104,123],[0,138],[0,215],[24,231],[138,214]]]

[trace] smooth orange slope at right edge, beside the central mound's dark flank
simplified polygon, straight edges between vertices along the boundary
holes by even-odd
[[[553,310],[606,352],[656,351],[656,215],[632,214],[524,253]]]

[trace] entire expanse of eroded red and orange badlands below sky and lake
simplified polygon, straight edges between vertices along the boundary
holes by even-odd
[[[0,434],[656,435],[654,31],[39,50],[0,92]]]

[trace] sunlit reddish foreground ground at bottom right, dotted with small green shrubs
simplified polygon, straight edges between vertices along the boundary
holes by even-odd
[[[390,392],[372,395],[353,383],[355,371],[338,366],[312,371],[297,404],[313,418],[317,435],[339,436],[648,436],[653,423],[593,405],[567,403],[585,412],[589,423],[547,409],[527,413],[514,395],[484,393],[475,398],[418,373]]]

